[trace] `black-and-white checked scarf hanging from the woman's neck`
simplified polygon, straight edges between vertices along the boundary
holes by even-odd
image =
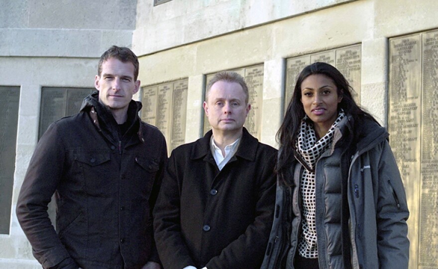
[[[301,179],[301,197],[303,201],[302,234],[298,243],[300,256],[310,259],[318,258],[317,229],[315,221],[316,198],[315,198],[315,166],[324,151],[329,148],[333,141],[334,129],[345,117],[341,110],[337,119],[331,125],[329,132],[317,141],[313,129],[313,123],[308,122],[306,116],[301,122],[301,130],[297,139],[297,151],[302,159],[299,160],[305,167]],[[304,163],[303,163],[304,162]]]

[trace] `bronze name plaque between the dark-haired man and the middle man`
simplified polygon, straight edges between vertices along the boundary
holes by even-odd
[[[141,119],[166,137],[168,153],[185,143],[188,79],[141,88]]]

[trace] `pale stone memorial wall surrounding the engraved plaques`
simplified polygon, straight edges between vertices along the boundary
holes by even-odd
[[[276,146],[285,59],[361,44],[361,104],[386,126],[388,39],[438,28],[436,0],[171,0],[157,6],[153,0],[0,0],[0,6],[0,86],[21,92],[10,232],[0,235],[4,269],[40,268],[15,204],[37,143],[41,87],[93,87],[98,59],[111,45],[139,56],[142,85],[188,78],[186,142],[202,135],[205,74],[263,63],[260,138]],[[416,246],[416,235],[410,237]],[[410,268],[418,268],[413,259]]]

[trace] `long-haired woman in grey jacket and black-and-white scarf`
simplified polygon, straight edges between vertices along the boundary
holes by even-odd
[[[388,136],[335,67],[303,69],[278,132],[262,269],[408,268],[409,211]]]

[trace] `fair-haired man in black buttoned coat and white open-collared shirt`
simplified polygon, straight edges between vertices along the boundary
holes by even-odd
[[[154,209],[164,269],[255,269],[271,229],[277,150],[243,124],[251,108],[244,79],[215,75],[204,110],[212,131],[173,150]]]

